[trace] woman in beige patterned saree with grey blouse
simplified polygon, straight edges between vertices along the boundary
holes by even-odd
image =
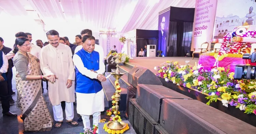
[[[31,44],[28,38],[19,37],[15,40],[13,52],[16,67],[17,107],[22,112],[25,131],[50,131],[53,119],[42,96],[42,76],[37,57],[27,53]]]

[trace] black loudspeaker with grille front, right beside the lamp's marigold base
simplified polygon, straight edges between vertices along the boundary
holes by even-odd
[[[137,134],[154,134],[154,121],[136,102],[136,99],[130,99],[129,105],[129,122]]]

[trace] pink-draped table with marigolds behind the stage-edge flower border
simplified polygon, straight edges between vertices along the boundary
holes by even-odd
[[[211,67],[214,65],[216,59],[214,56],[208,55],[200,55],[198,64],[201,64],[204,69],[211,70]],[[218,66],[224,67],[225,69],[230,66],[230,71],[234,72],[236,65],[238,64],[250,64],[256,66],[256,63],[251,63],[251,60],[244,60],[242,58],[235,58],[235,57],[225,57],[222,61],[219,61]]]

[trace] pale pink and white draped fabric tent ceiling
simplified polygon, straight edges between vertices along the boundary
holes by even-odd
[[[158,12],[169,6],[195,7],[195,0],[0,0],[0,9],[10,15],[27,15],[27,8],[32,7],[45,22],[45,30],[61,22],[95,32],[115,29],[122,33],[156,30]]]

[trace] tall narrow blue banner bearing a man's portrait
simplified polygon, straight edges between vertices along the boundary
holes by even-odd
[[[168,36],[169,36],[170,10],[158,16],[158,47],[157,50],[163,51],[162,56],[167,56]]]

